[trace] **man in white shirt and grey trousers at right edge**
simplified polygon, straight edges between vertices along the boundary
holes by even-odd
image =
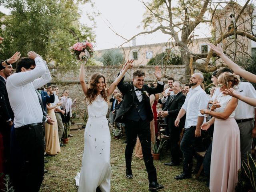
[[[256,91],[249,82],[240,82],[236,91],[243,96],[256,98]],[[256,136],[256,127],[253,124],[255,108],[238,100],[234,118],[240,130],[241,159],[247,162],[247,153],[252,154],[252,140]]]

